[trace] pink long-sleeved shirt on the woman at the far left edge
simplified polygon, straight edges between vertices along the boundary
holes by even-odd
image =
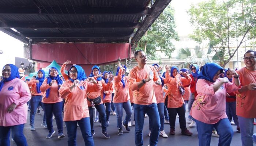
[[[27,123],[27,101],[31,99],[29,87],[26,82],[15,78],[5,82],[0,92],[0,126],[14,126]],[[12,113],[7,108],[12,103],[17,107]]]

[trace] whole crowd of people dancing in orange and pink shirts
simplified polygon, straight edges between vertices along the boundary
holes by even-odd
[[[94,122],[98,121],[101,134],[110,138],[107,127],[111,109],[113,115],[116,114],[117,135],[123,135],[123,130],[131,131],[131,123],[135,125],[136,146],[143,146],[145,116],[149,117],[150,146],[156,146],[159,136],[168,137],[164,123],[170,125],[169,135],[176,134],[177,114],[182,135],[193,135],[186,127],[186,120],[191,122],[189,127],[196,125],[199,146],[210,146],[212,133],[219,136],[218,145],[229,146],[234,133],[231,124],[241,132],[243,146],[253,146],[253,141],[256,142],[256,134],[253,134],[256,118],[255,51],[244,54],[245,67],[239,70],[207,63],[200,67],[193,64],[189,69],[181,70],[166,65],[162,73],[163,68],[159,65],[147,65],[147,56],[142,50],[136,51],[134,57],[138,65],[128,76],[126,66],[120,63],[116,76],[112,71],[101,73],[97,65],[91,68],[88,77],[79,65],[72,65],[65,74],[65,68],[71,64],[71,61],[66,61],[61,66],[61,77],[59,70],[51,67],[48,77],[45,77],[44,70],[38,70],[36,77],[23,82],[15,65],[5,65],[0,82],[0,146],[10,146],[10,134],[18,146],[27,146],[23,128],[27,122],[28,101],[31,105],[30,130],[36,130],[34,119],[40,105],[44,110],[41,125],[48,129],[46,138],[52,138],[56,132],[52,124],[54,115],[57,138],[65,137],[64,121],[69,146],[76,145],[78,126],[85,145],[93,146]],[[190,114],[185,118],[187,106]]]

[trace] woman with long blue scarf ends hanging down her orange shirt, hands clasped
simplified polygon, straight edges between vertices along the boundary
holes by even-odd
[[[55,67],[49,69],[49,76],[44,80],[40,90],[44,92],[42,103],[44,103],[44,111],[46,116],[47,129],[49,131],[46,138],[51,138],[55,133],[52,126],[52,116],[56,119],[58,129],[58,139],[64,138],[63,120],[62,120],[62,104],[63,101],[59,95],[59,88],[63,84],[60,79],[59,70]],[[45,92],[46,91],[46,92]]]

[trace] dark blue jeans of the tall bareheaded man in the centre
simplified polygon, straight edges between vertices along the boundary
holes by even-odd
[[[156,146],[160,131],[160,117],[156,103],[150,105],[133,104],[135,115],[135,145],[143,146],[142,130],[144,126],[144,116],[147,113],[151,119],[152,128],[149,139],[150,146]]]

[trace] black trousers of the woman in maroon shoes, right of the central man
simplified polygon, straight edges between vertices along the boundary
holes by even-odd
[[[178,108],[167,108],[169,115],[170,115],[170,128],[175,129],[175,121],[176,121],[176,115],[178,113],[179,115],[179,122],[180,122],[180,128],[181,130],[185,130],[186,127],[186,118],[185,118],[185,104],[182,105],[182,107]]]

